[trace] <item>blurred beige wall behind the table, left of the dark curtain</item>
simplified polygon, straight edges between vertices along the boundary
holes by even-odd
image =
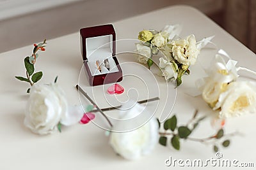
[[[173,4],[189,4],[205,13],[212,13],[222,8],[222,1],[0,0],[0,52]]]

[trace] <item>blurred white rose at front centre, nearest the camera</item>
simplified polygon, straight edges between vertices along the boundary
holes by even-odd
[[[132,109],[125,111],[122,120],[136,117],[136,115],[139,115],[143,110],[145,110],[145,106],[136,103]],[[149,112],[147,113],[149,114]],[[143,114],[146,114],[145,111]],[[147,115],[143,115],[143,117],[145,116],[147,117]],[[134,123],[136,123],[136,121]],[[117,122],[114,127],[122,129],[124,125],[125,124],[122,122]],[[129,125],[131,126],[131,124]],[[146,124],[138,129],[129,132],[111,132],[109,144],[116,153],[125,159],[134,160],[150,153],[157,144],[158,138],[158,123],[155,117],[151,117]]]

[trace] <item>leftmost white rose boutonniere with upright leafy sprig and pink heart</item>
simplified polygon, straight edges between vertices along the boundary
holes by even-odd
[[[45,51],[46,40],[38,45],[34,44],[31,56],[25,57],[26,78],[15,76],[20,81],[26,81],[31,85],[27,90],[29,99],[25,110],[24,125],[36,134],[51,134],[62,125],[73,125],[78,122],[87,124],[95,118],[94,106],[88,105],[84,109],[81,106],[68,106],[67,98],[55,78],[54,83],[37,84],[42,78],[42,71],[35,73],[35,63],[38,59],[38,51]]]

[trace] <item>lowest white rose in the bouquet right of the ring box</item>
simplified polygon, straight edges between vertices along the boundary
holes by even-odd
[[[165,80],[169,80],[170,78],[177,78],[177,64],[173,62],[169,62],[168,60],[163,59],[161,57],[159,59],[159,67],[161,68],[162,75],[164,76]]]

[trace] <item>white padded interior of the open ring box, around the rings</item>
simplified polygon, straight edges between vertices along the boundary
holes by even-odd
[[[118,72],[115,60],[112,57],[113,53],[113,36],[97,36],[92,38],[86,38],[86,57],[88,59],[88,66],[93,76],[100,74],[108,74]],[[104,65],[104,60],[109,61],[109,71]],[[96,61],[99,60],[101,73],[97,69]]]

